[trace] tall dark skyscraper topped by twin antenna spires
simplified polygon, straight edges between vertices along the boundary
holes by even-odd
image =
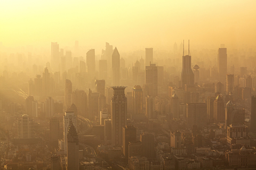
[[[188,45],[189,49],[189,45]],[[189,54],[188,50],[188,55],[182,56],[182,71],[181,71],[181,85],[182,88],[185,89],[185,84],[188,86],[194,86],[194,73],[191,69],[191,56]]]

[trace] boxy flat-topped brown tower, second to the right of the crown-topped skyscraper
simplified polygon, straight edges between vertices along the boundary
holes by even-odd
[[[142,156],[146,158],[154,158],[154,134],[149,132],[143,132],[140,134]]]

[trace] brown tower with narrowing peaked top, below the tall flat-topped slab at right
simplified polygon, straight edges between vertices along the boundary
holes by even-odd
[[[225,107],[222,95],[218,95],[214,100],[213,119],[214,123],[225,122]]]

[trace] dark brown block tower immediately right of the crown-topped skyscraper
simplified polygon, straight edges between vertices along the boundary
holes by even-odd
[[[128,159],[128,145],[129,142],[136,141],[137,133],[136,133],[136,128],[133,125],[126,125],[123,128],[123,154],[126,159]]]

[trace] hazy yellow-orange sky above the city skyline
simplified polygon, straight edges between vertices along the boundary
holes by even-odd
[[[5,46],[103,48],[256,44],[256,1],[1,0]]]

